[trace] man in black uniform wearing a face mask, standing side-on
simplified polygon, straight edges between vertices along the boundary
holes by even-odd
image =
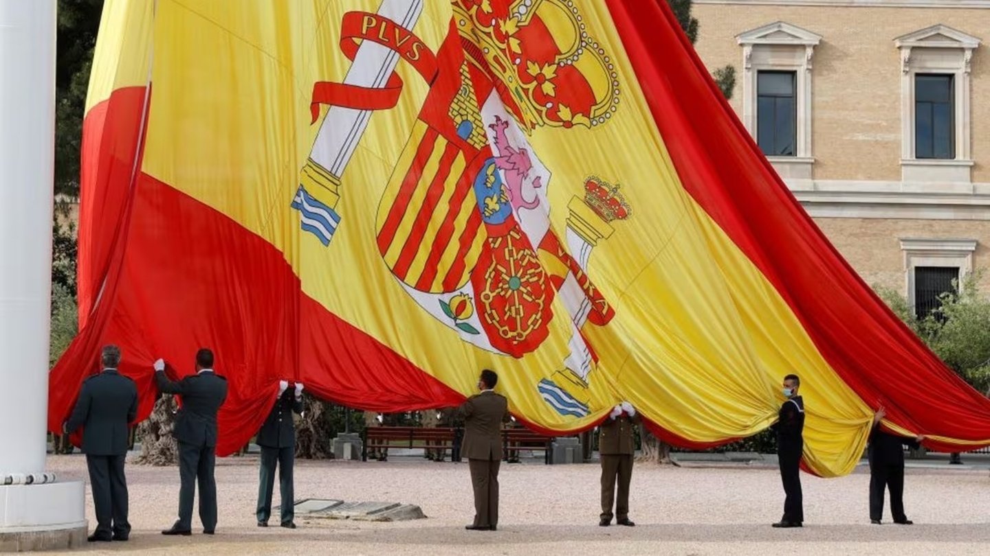
[[[774,527],[800,527],[804,523],[804,501],[801,496],[801,452],[804,450],[804,400],[798,394],[801,379],[797,375],[784,377],[784,405],[773,427],[777,431],[777,458],[780,479],[784,484],[784,515]]]

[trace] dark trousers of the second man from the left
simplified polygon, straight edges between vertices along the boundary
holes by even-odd
[[[179,529],[192,529],[192,501],[199,484],[199,520],[203,528],[217,528],[217,482],[213,477],[216,446],[179,442]]]

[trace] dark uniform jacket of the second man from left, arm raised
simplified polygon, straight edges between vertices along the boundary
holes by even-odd
[[[172,436],[193,446],[216,446],[217,412],[227,400],[227,379],[213,371],[204,371],[172,382],[164,371],[157,371],[154,380],[161,392],[182,397]]]

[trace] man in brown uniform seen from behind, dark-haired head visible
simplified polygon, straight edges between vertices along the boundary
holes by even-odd
[[[495,394],[498,375],[481,371],[478,390],[457,408],[464,419],[461,455],[467,457],[474,487],[474,522],[464,527],[472,531],[494,531],[498,526],[498,469],[502,463],[502,423],[509,419],[509,402]]]

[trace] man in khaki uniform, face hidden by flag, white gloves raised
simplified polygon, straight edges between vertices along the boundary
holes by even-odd
[[[598,452],[602,456],[602,515],[599,525],[612,523],[612,503],[615,501],[616,524],[632,527],[629,518],[629,482],[633,478],[633,427],[636,410],[629,402],[616,406],[599,425]],[[616,500],[616,479],[619,498]]]

